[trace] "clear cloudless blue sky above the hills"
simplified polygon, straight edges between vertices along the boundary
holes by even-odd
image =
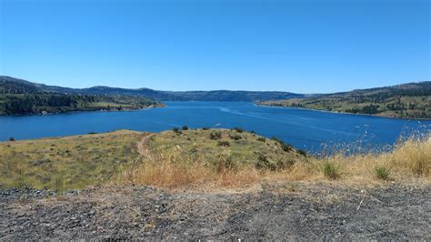
[[[430,80],[430,1],[0,0],[0,75],[327,93]]]

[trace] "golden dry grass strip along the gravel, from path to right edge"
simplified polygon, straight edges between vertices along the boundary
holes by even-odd
[[[146,160],[140,166],[129,170],[128,181],[133,184],[170,188],[242,187],[264,180],[336,179],[333,182],[362,185],[376,185],[387,180],[401,183],[413,179],[426,183],[431,181],[431,136],[425,139],[407,139],[397,144],[393,151],[386,153],[346,156],[343,152],[338,152],[332,156],[297,159],[293,166],[276,171],[258,170],[255,166],[230,166],[229,164],[236,163],[236,160],[229,160],[229,147],[224,148],[219,156],[211,156],[210,161],[207,154],[185,156],[183,148],[178,145],[163,146],[163,151],[155,148],[153,161]],[[208,166],[214,165],[215,160],[218,160],[217,166]],[[327,164],[331,165],[330,170]],[[336,170],[332,169],[333,167],[336,167]],[[390,174],[390,179],[377,177],[376,167],[383,167]]]

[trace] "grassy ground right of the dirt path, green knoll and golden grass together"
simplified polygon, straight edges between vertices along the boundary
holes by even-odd
[[[149,154],[126,180],[159,187],[241,187],[262,180],[340,180],[343,183],[378,184],[381,181],[429,183],[431,178],[431,138],[410,138],[388,153],[338,154],[315,157],[298,151],[284,151],[275,140],[259,141],[260,136],[222,129],[220,140],[230,146],[218,146],[210,139],[214,130],[172,131],[155,135],[149,142]],[[275,166],[262,166],[267,162]],[[276,166],[283,164],[284,166]],[[383,172],[382,172],[383,171]],[[381,176],[381,175],[386,176]]]

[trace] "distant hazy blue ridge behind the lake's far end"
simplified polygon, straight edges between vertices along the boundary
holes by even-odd
[[[219,101],[219,102],[258,102],[266,100],[281,100],[304,95],[288,92],[251,92],[251,91],[158,91],[149,88],[127,89],[109,86],[94,86],[89,88],[68,88],[61,86],[46,86],[31,83],[25,80],[9,76],[0,76],[0,93],[3,88],[9,88],[9,92],[16,89],[28,92],[50,92],[60,94],[83,95],[120,95],[120,96],[145,96],[155,101]]]

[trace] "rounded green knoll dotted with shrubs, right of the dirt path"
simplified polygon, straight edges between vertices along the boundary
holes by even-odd
[[[221,137],[211,139],[211,133],[216,132]],[[263,139],[259,141],[259,137]],[[229,146],[218,145],[223,141]],[[186,130],[179,134],[165,131],[151,138],[150,146],[153,153],[173,158],[176,163],[205,162],[205,166],[216,169],[221,159],[227,159],[227,165],[233,168],[252,166],[262,169],[277,169],[305,159],[295,149],[283,150],[275,140],[230,129]]]

